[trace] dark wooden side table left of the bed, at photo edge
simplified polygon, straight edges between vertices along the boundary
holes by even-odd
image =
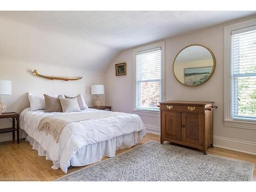
[[[12,140],[14,140],[15,131],[17,131],[17,143],[19,144],[19,114],[15,112],[3,113],[2,115],[0,115],[0,119],[3,119],[3,118],[12,118],[12,127],[0,129],[0,134],[12,132]],[[15,128],[15,119],[17,121],[17,128]]]

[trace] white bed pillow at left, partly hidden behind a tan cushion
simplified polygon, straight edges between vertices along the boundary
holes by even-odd
[[[45,110],[46,109],[46,101],[44,95],[33,95],[31,93],[28,94],[30,110]],[[58,95],[50,95],[51,97],[57,98]]]

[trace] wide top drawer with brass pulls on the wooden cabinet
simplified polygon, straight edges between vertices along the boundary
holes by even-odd
[[[205,106],[195,106],[195,105],[172,105],[172,104],[160,104],[161,111],[180,111],[180,112],[195,112],[204,113]]]

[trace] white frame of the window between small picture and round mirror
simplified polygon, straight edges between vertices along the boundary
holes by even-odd
[[[165,58],[165,43],[163,42],[158,42],[155,44],[147,45],[147,46],[142,46],[136,49],[133,49],[133,111],[137,112],[150,112],[153,114],[158,114],[160,113],[160,110],[158,109],[139,109],[136,108],[136,53],[137,52],[142,52],[150,49],[156,49],[156,48],[161,48],[161,101],[164,101],[165,99],[165,70],[164,70],[164,58]],[[156,115],[158,116],[158,115]]]

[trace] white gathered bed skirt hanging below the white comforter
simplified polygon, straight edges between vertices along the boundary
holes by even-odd
[[[32,145],[33,150],[38,151],[39,156],[46,156],[47,160],[51,160],[49,153],[41,147],[41,145],[30,137],[25,131],[23,131],[23,137],[26,138],[26,141]],[[128,148],[137,143],[135,132],[121,135],[110,140],[89,144],[81,147],[71,158],[70,164],[72,166],[84,166],[92,164],[95,162],[101,161],[103,157],[113,157],[116,154],[117,150],[122,148]],[[53,161],[52,168],[58,169],[59,162]]]

